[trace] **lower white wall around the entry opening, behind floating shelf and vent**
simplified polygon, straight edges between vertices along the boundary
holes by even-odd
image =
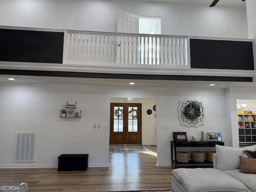
[[[172,132],[187,132],[200,138],[201,131],[221,132],[226,143],[225,91],[218,88],[149,88],[83,86],[64,84],[0,84],[1,140],[0,167],[54,167],[58,156],[68,153],[89,154],[89,166],[108,166],[110,98],[156,98],[157,148],[159,166],[170,166]],[[204,101],[206,120],[198,128],[181,126],[179,100]],[[77,102],[82,118],[62,119],[60,109],[69,101]],[[236,122],[236,119],[235,119]],[[94,128],[108,125],[108,130]],[[162,126],[168,129],[163,130]],[[36,162],[14,163],[15,132],[37,132]],[[206,135],[205,135],[206,136]]]

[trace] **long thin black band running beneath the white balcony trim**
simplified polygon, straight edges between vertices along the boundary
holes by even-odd
[[[2,69],[0,74],[27,76],[54,76],[102,79],[146,79],[146,80],[187,80],[187,81],[233,81],[252,82],[252,77],[218,77],[218,76],[186,76],[186,75],[140,75],[140,74],[106,74],[62,71],[34,71]]]

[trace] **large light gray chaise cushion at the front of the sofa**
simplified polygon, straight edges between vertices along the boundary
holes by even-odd
[[[214,168],[178,168],[172,174],[188,192],[249,192],[240,181]]]

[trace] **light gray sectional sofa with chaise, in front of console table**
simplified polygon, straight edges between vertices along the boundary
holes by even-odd
[[[256,145],[233,148],[216,145],[214,168],[178,168],[172,171],[174,192],[256,192],[256,174],[242,173],[240,158],[244,150]]]

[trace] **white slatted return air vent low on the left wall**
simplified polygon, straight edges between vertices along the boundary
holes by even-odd
[[[16,132],[14,162],[34,162],[35,149],[35,132]]]

